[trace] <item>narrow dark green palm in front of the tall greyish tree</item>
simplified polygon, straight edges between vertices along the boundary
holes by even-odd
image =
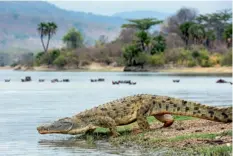
[[[185,22],[179,26],[181,38],[184,40],[186,46],[188,46],[188,41],[190,38],[189,29],[192,25],[194,25],[194,22]]]

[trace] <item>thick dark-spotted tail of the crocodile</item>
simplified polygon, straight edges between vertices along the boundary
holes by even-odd
[[[218,108],[176,98],[163,97],[154,102],[152,114],[192,116],[218,122],[232,122],[232,107]]]

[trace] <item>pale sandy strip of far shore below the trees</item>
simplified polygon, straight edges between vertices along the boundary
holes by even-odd
[[[55,67],[48,66],[35,66],[28,68],[25,66],[16,67],[0,67],[0,70],[20,70],[20,71],[87,71],[87,72],[123,72],[124,66],[111,66],[100,63],[91,63],[90,65],[83,66],[81,68],[66,67],[64,69],[58,69]],[[150,68],[148,72],[161,72],[161,73],[186,73],[186,74],[232,74],[232,67],[192,67],[192,68],[167,68],[167,69],[156,69]]]

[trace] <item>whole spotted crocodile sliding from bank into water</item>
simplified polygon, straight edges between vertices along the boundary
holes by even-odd
[[[183,99],[140,94],[124,97],[83,111],[72,117],[59,119],[51,124],[37,127],[40,134],[81,134],[93,132],[97,127],[109,128],[113,137],[119,135],[117,126],[137,121],[141,131],[150,130],[148,116],[164,123],[173,124],[172,115],[192,116],[216,122],[232,122],[232,107],[213,107]]]

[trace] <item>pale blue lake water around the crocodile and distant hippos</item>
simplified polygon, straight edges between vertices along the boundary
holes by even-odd
[[[32,82],[21,78],[31,76]],[[90,79],[105,78],[91,83]],[[70,79],[69,83],[50,80]],[[232,86],[217,84],[229,76],[179,76],[161,73],[123,72],[20,72],[0,71],[0,155],[154,155],[143,150],[114,147],[105,141],[87,146],[69,135],[40,135],[36,127],[58,118],[73,116],[99,104],[134,94],[156,94],[198,101],[209,105],[231,105]],[[11,79],[6,83],[4,79]],[[39,83],[38,79],[45,79]],[[180,83],[173,83],[180,79]],[[132,80],[137,85],[112,85],[112,80]]]

